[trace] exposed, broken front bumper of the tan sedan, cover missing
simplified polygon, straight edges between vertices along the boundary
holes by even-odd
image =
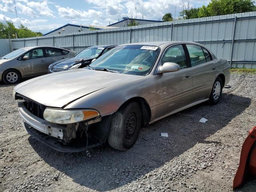
[[[90,136],[90,139],[76,139],[80,123],[62,126],[50,123],[32,114],[23,102],[18,102],[18,110],[22,118],[22,126],[27,132],[40,142],[60,152],[80,152],[102,144],[97,138]],[[96,118],[83,124],[90,125],[100,122]]]

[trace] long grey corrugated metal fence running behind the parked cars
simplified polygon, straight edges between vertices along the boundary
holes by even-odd
[[[57,46],[76,52],[93,45],[150,41],[194,41],[208,47],[232,67],[256,68],[256,12],[176,20],[132,27],[76,32],[65,36],[12,39],[13,50]]]

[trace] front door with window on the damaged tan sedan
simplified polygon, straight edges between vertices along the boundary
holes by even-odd
[[[173,62],[180,66],[176,72],[157,74],[156,117],[159,118],[192,102],[193,84],[188,59],[182,44],[169,47],[163,54],[160,64]]]

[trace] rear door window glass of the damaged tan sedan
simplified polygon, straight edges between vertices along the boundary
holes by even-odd
[[[186,46],[188,48],[188,54],[190,56],[192,67],[206,62],[206,58],[201,46],[190,44],[187,44]]]

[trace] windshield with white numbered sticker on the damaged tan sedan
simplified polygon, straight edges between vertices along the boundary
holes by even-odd
[[[154,66],[160,48],[148,45],[118,46],[98,58],[90,67],[123,74],[146,75]]]

